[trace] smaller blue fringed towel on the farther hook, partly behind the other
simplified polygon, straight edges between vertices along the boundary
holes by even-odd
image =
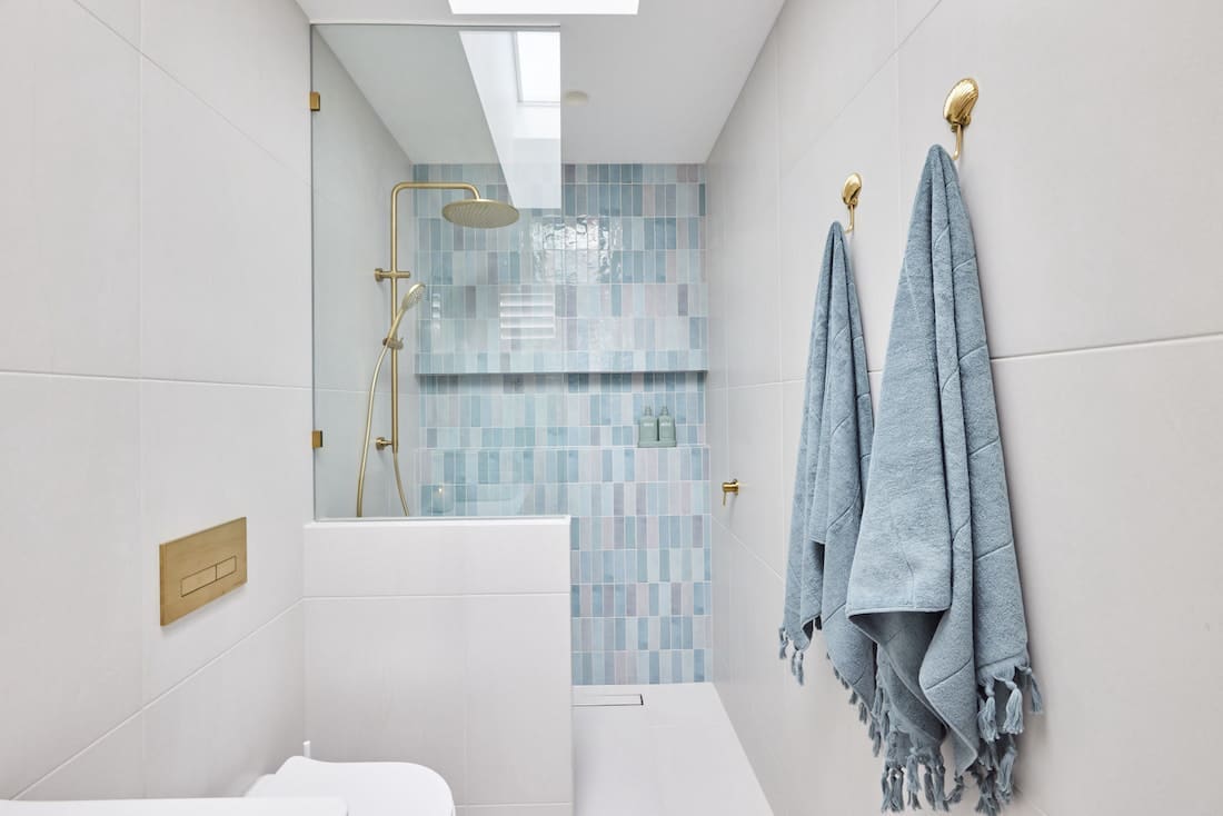
[[[874,644],[845,617],[845,591],[873,432],[857,291],[845,234],[834,223],[811,325],[780,636],[783,657],[794,646],[791,666],[801,683],[812,630],[823,630],[833,672],[852,690],[862,722],[874,702]],[[874,736],[873,722],[870,730]]]

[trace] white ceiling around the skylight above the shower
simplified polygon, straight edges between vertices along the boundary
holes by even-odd
[[[456,17],[448,0],[297,2],[316,23],[558,24],[563,91],[591,98],[564,109],[565,161],[701,163],[784,0],[641,0],[635,16],[570,17]],[[450,54],[422,46],[391,49],[389,56],[357,48],[363,40],[324,37],[413,161],[493,160],[487,126],[475,125],[475,117],[483,122],[479,98],[466,64],[455,62],[464,59],[457,37]],[[396,76],[422,81],[396,82]]]

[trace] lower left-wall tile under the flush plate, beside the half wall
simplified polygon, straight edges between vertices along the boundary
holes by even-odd
[[[240,796],[301,752],[302,637],[295,604],[146,710],[148,796]]]

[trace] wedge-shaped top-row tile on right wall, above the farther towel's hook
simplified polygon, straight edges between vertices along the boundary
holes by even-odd
[[[781,169],[810,149],[887,61],[895,45],[895,1],[790,0],[781,9],[775,28]]]

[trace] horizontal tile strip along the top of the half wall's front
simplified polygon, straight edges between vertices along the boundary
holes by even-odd
[[[569,536],[567,516],[320,521],[306,527],[306,597],[569,597]]]

